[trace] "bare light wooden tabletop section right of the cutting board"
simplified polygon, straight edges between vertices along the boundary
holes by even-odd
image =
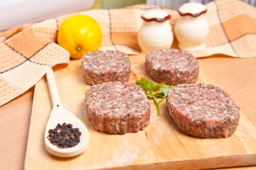
[[[256,58],[215,55],[198,59],[198,62],[207,75],[230,94],[241,112],[256,126]]]

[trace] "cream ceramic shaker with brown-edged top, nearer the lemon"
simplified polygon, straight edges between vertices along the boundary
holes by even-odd
[[[150,9],[141,16],[143,24],[138,32],[138,43],[143,53],[171,48],[173,31],[171,15],[163,9]]]

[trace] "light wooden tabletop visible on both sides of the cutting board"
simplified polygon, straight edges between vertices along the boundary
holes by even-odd
[[[198,59],[213,81],[230,94],[241,112],[256,126],[256,58],[215,55]],[[23,169],[34,87],[0,107],[0,170]],[[41,126],[41,125],[38,125]],[[256,167],[228,170],[253,170]]]

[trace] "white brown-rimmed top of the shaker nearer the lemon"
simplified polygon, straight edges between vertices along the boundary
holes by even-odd
[[[146,22],[150,22],[150,21],[163,22],[171,19],[171,15],[163,9],[156,8],[156,9],[149,9],[148,11],[142,14],[141,18]]]

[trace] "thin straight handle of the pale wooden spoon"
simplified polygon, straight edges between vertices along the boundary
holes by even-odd
[[[46,77],[47,77],[48,87],[49,87],[50,94],[51,94],[52,106],[53,107],[56,107],[57,105],[61,106],[61,99],[58,94],[58,88],[57,88],[57,85],[55,82],[52,68],[49,71],[47,71]]]

